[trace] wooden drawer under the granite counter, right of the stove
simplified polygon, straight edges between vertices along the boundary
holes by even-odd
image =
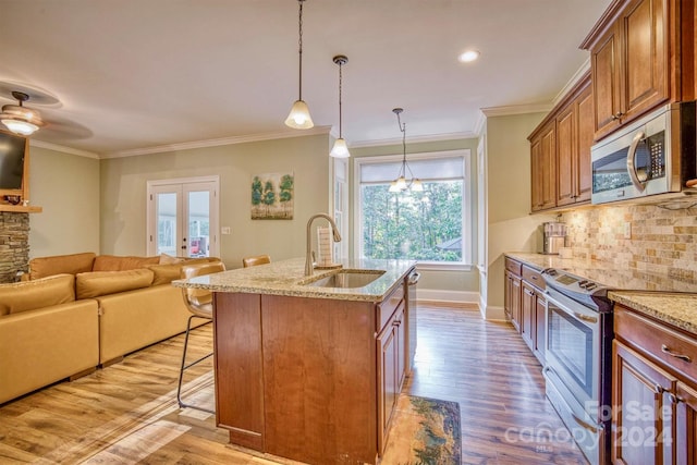
[[[615,336],[646,354],[675,375],[697,382],[697,340],[660,322],[615,305]]]

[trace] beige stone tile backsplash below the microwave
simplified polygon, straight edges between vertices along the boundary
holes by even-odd
[[[561,217],[568,227],[566,245],[577,258],[610,261],[619,269],[694,281],[697,279],[697,205],[693,208],[692,204],[683,200],[663,207],[598,206],[567,211]]]

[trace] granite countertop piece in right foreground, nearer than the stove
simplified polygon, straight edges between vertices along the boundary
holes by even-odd
[[[697,335],[697,295],[611,291],[608,296],[625,307]]]

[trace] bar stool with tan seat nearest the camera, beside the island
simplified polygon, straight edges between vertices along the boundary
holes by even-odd
[[[220,271],[225,271],[225,265],[222,261],[184,265],[182,267],[181,277],[182,279],[189,279],[204,274],[217,273]],[[184,304],[186,305],[186,308],[188,308],[188,311],[192,313],[192,315],[188,317],[188,321],[186,323],[186,335],[184,336],[184,353],[182,354],[182,366],[179,372],[179,386],[176,388],[176,401],[179,402],[179,406],[181,408],[188,407],[215,414],[215,411],[186,404],[182,401],[182,380],[184,379],[184,371],[213,355],[213,353],[211,352],[210,354],[207,354],[189,363],[188,365],[186,364],[186,348],[188,347],[188,333],[191,332],[192,320],[194,318],[201,318],[208,321],[212,321],[213,295],[212,292],[208,290],[191,287],[183,287],[182,295],[184,297]]]

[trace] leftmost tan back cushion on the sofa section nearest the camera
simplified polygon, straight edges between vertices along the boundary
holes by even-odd
[[[74,299],[73,274],[54,274],[32,281],[0,284],[0,315],[66,304]]]

